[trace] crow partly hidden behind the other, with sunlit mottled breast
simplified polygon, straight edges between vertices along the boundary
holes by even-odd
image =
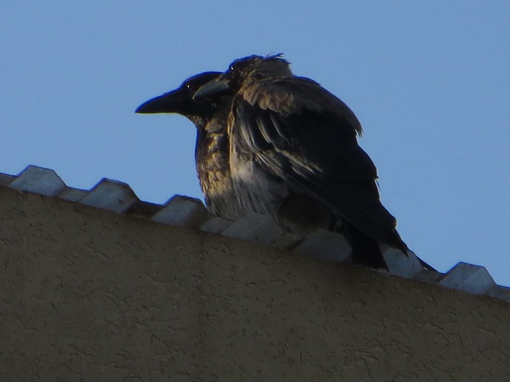
[[[203,72],[184,80],[168,93],[149,99],[135,113],[176,113],[188,118],[196,127],[195,163],[200,188],[211,215],[238,220],[242,210],[230,175],[226,118],[232,95],[228,92],[194,100],[202,85],[217,78],[220,72]]]

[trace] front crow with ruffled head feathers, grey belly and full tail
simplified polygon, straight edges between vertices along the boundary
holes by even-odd
[[[234,93],[227,135],[243,213],[269,214],[298,231],[341,232],[354,264],[388,269],[380,245],[407,255],[380,202],[376,167],[358,144],[362,126],[342,100],[295,76],[281,53],[238,59],[193,97],[223,92]]]

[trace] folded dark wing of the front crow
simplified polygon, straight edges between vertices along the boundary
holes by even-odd
[[[232,107],[231,151],[253,156],[296,191],[386,241],[395,218],[379,201],[375,166],[358,146],[361,126],[345,103],[314,81],[293,77],[241,89]]]

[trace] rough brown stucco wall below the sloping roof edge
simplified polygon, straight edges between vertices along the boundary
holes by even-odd
[[[2,381],[502,381],[510,304],[0,187]]]

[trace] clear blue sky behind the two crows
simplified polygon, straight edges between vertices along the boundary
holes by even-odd
[[[0,2],[0,172],[201,197],[195,129],[135,115],[188,76],[284,52],[360,119],[418,256],[510,285],[510,2]]]

